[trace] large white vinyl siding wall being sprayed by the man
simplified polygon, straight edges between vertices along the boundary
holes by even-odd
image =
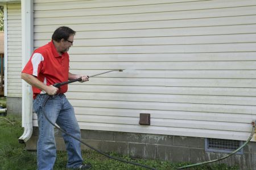
[[[81,129],[249,137],[256,1],[35,0],[34,10],[35,48],[61,25],[77,31],[71,73],[126,69],[69,85]],[[139,113],[151,114],[150,126]]]

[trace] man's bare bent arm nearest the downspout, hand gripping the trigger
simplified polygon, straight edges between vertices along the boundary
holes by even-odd
[[[21,78],[31,86],[34,86],[36,88],[39,88],[40,90],[45,91],[48,95],[56,95],[57,91],[59,90],[59,88],[56,88],[52,85],[46,86],[46,84],[40,82],[38,78],[31,74],[22,73]]]

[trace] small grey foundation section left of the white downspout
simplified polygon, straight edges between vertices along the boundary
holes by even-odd
[[[7,114],[22,117],[22,97],[6,97]]]

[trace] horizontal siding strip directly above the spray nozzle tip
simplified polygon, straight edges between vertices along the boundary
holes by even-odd
[[[127,69],[119,75],[133,70],[234,70],[256,68],[256,61],[191,61],[191,62],[71,62],[76,69]],[[134,71],[134,72],[135,72]],[[114,74],[114,73],[109,73]],[[115,73],[117,74],[117,73]]]

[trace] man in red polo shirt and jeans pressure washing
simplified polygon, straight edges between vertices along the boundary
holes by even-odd
[[[81,78],[81,82],[89,80],[89,76],[69,73],[68,50],[73,45],[75,31],[68,27],[59,27],[52,35],[52,41],[36,49],[22,71],[22,79],[31,84],[33,90],[33,110],[38,116],[39,139],[37,145],[38,170],[53,169],[56,159],[54,128],[43,115],[44,113],[61,129],[81,138],[74,109],[64,93],[68,85],[56,88],[52,84]],[[62,134],[68,152],[67,168],[89,169],[90,165],[82,164],[80,142]]]

